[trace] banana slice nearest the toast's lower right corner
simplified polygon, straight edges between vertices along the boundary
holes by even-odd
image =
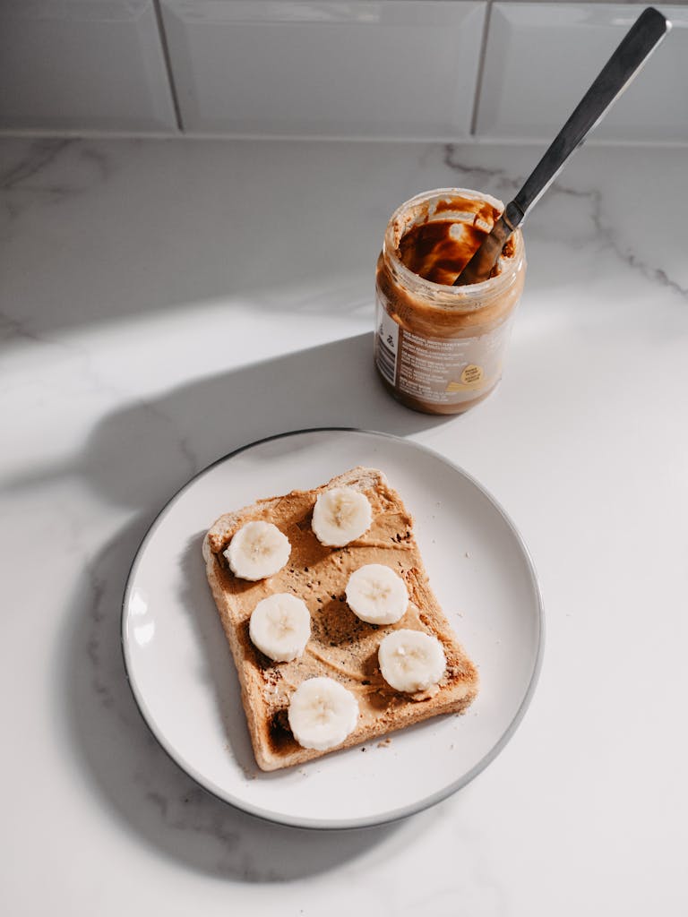
[[[396,691],[425,691],[447,668],[441,643],[423,631],[393,631],[383,637],[377,657],[383,679]]]

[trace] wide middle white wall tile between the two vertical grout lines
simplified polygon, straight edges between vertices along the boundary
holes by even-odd
[[[162,0],[183,125],[280,136],[466,136],[484,9],[433,0]]]

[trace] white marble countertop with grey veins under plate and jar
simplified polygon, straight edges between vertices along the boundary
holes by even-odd
[[[472,413],[410,413],[372,372],[390,211],[445,184],[508,197],[537,152],[2,141],[6,912],[686,912],[685,150],[578,154],[527,226],[505,379]],[[547,610],[494,763],[341,834],[197,789],[142,723],[118,635],[170,494],[311,425],[459,462],[520,526]]]

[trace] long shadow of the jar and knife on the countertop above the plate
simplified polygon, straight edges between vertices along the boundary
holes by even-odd
[[[130,402],[95,425],[81,452],[32,466],[4,488],[76,476],[99,499],[150,516],[196,472],[266,436],[319,426],[407,436],[452,422],[461,418],[418,414],[383,390],[368,333]]]

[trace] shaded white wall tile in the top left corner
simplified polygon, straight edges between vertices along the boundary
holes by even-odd
[[[0,127],[176,130],[152,0],[1,0]]]

